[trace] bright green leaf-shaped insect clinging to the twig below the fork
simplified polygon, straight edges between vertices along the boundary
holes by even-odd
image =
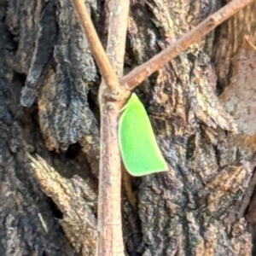
[[[119,148],[125,168],[132,176],[168,170],[148,114],[135,93],[119,120]]]

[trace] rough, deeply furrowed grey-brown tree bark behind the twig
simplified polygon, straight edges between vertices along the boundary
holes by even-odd
[[[107,3],[86,3],[106,42]],[[125,73],[219,6],[132,3]],[[240,72],[232,59],[244,34],[256,44],[255,11],[241,10],[136,90],[171,171],[124,173],[127,255],[252,255],[254,148],[237,144],[223,107],[231,96],[220,102],[216,91]],[[67,0],[0,0],[0,17],[0,255],[94,255],[100,76],[86,38]]]

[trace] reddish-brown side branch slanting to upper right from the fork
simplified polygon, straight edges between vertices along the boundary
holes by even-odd
[[[226,4],[224,8],[209,16],[202,21],[198,26],[195,26],[191,31],[185,33],[182,38],[179,38],[175,43],[168,48],[155,55],[149,61],[141,66],[134,68],[131,73],[125,75],[121,80],[121,84],[125,90],[132,90],[143,80],[147,79],[155,71],[164,67],[168,61],[172,61],[177,55],[187,49],[189,45],[195,44],[203,38],[208,32],[211,32],[216,26],[227,20],[232,15],[235,15],[240,9],[248,4],[253,3],[253,0],[233,0]]]

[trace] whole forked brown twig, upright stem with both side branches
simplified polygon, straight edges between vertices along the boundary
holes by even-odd
[[[123,13],[123,17],[121,17],[117,10],[113,10],[113,20],[111,21],[108,35],[108,55],[112,60],[115,71],[119,75],[123,67],[124,49],[118,52],[119,46],[115,44],[114,40],[125,38],[124,29],[126,25],[122,23],[122,21],[127,19],[126,10],[128,14],[128,5],[126,5],[125,2],[128,1],[113,0],[113,8],[119,7],[119,10],[125,9],[125,15]],[[105,97],[107,89],[109,89],[113,95],[117,93],[117,89],[123,90],[123,92],[125,92],[125,90],[132,90],[150,74],[160,69],[160,67],[163,67],[168,61],[171,61],[175,56],[189,47],[190,44],[194,44],[200,40],[207,32],[210,32],[224,20],[234,15],[239,9],[242,9],[249,3],[253,3],[253,0],[233,0],[223,9],[220,9],[217,13],[203,21],[199,26],[196,26],[192,31],[186,33],[182,38],[177,40],[176,43],[172,44],[166,50],[163,50],[159,55],[155,55],[151,60],[127,74],[121,80],[122,86],[120,88],[118,77],[113,71],[113,67],[110,61],[108,61],[107,55],[104,53],[102,44],[96,35],[96,31],[90,21],[90,16],[86,11],[83,0],[73,0],[73,3],[79,15],[84,33],[90,43],[92,54],[96,59],[102,77],[106,83],[105,85],[102,84],[99,96],[102,127],[97,255],[124,255],[120,220],[120,155],[117,132],[120,111],[118,108],[114,109],[113,106],[112,108],[108,108],[108,99]],[[114,19],[114,15],[116,15],[116,19]],[[118,40],[116,40],[116,42],[118,42]],[[124,43],[121,43],[120,45],[123,46],[123,44]],[[116,107],[118,106],[118,104],[115,105]],[[114,226],[118,228],[115,229]]]

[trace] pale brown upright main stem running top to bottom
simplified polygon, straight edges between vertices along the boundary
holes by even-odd
[[[129,0],[110,2],[107,54],[119,78],[123,74]],[[98,200],[97,256],[124,255],[121,219],[121,157],[118,143],[119,113],[107,108],[101,84],[101,159]]]

